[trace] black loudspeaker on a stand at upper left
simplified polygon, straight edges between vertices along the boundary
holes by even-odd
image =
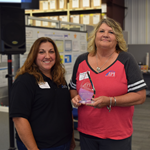
[[[0,6],[0,53],[23,54],[25,43],[24,9]]]

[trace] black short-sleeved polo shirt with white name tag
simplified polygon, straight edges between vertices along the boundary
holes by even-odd
[[[11,89],[10,117],[28,119],[38,148],[57,147],[72,137],[72,106],[68,86],[44,76],[45,84],[33,75],[20,75]],[[18,134],[16,138],[19,139]]]

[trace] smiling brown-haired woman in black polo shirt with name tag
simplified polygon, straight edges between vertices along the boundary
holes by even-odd
[[[19,150],[73,150],[72,106],[58,49],[37,39],[11,90],[10,117]]]

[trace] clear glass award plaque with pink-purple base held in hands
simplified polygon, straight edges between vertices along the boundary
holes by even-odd
[[[95,88],[88,71],[85,73],[80,85],[79,95],[81,97],[81,101],[79,103],[93,103],[92,98],[95,96]]]

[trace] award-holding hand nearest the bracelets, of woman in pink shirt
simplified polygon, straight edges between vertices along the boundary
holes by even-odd
[[[93,103],[87,103],[87,106],[92,106],[94,108],[102,108],[108,106],[110,103],[110,98],[107,96],[99,96],[97,98],[92,98]]]

